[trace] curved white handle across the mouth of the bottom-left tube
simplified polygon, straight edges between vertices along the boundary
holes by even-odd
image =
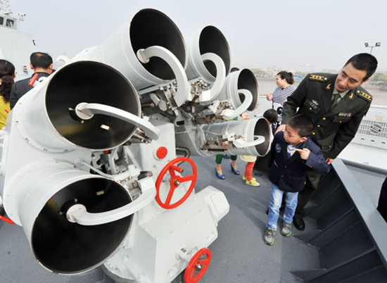
[[[135,201],[128,203],[126,206],[103,213],[89,213],[83,204],[78,203],[68,209],[66,213],[68,221],[77,222],[80,225],[93,226],[120,220],[136,213],[155,199],[156,196],[156,187],[152,177],[147,177],[137,182],[141,187],[142,193]]]

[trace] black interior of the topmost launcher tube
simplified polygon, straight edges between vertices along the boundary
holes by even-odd
[[[129,30],[130,42],[134,54],[139,49],[150,46],[162,46],[172,52],[184,67],[186,63],[186,49],[182,34],[175,23],[160,11],[144,9],[132,18]],[[165,61],[153,57],[144,68],[162,80],[173,80],[175,75]]]

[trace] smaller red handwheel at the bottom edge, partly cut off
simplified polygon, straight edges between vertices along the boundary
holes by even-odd
[[[204,257],[204,258],[203,258]],[[202,259],[201,259],[202,258]],[[184,272],[184,282],[196,283],[199,282],[201,277],[205,274],[210,265],[211,251],[210,249],[203,248],[195,253],[195,256],[189,260],[186,266],[186,272]],[[196,271],[198,273],[195,275]]]

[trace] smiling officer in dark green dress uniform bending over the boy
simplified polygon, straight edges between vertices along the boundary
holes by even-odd
[[[371,54],[357,54],[345,63],[337,75],[310,74],[284,104],[282,125],[296,114],[305,114],[315,123],[310,138],[319,145],[326,161],[334,158],[355,137],[363,116],[371,105],[372,96],[360,85],[375,72],[377,61]],[[317,189],[320,175],[310,170],[303,191],[298,194],[298,206],[293,218],[297,229],[305,229],[304,206]]]

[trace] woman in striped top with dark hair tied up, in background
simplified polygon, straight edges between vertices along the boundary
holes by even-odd
[[[277,127],[281,125],[282,121],[282,109],[288,96],[290,96],[296,87],[294,87],[293,74],[286,71],[281,71],[276,77],[277,89],[274,89],[272,94],[267,94],[266,99],[272,101],[272,108],[278,113],[277,122],[273,123],[273,130],[277,130]],[[274,134],[273,132],[273,134]]]

